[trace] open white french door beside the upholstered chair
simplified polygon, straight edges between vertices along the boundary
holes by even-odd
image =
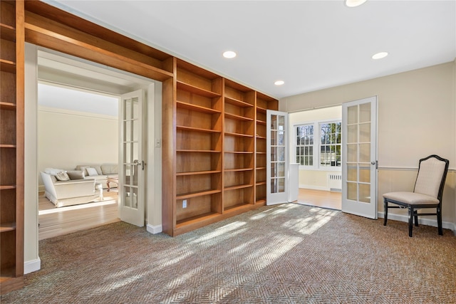
[[[342,211],[377,219],[377,97],[342,104]]]

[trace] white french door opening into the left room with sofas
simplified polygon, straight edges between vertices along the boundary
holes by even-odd
[[[136,226],[145,224],[145,161],[143,90],[121,96],[119,105],[119,217]]]

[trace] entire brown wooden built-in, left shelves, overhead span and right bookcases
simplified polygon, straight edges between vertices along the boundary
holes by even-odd
[[[277,100],[43,1],[26,1],[25,38],[24,1],[0,2],[2,292],[24,272],[25,40],[162,82],[167,234],[266,203],[265,111],[278,110]]]

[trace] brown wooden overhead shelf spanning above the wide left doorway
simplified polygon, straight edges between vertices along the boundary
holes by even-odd
[[[25,41],[153,80],[173,77],[165,70],[172,56],[41,1],[26,1]]]

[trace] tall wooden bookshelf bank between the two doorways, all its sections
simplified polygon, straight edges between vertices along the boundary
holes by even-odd
[[[174,83],[163,90],[173,96],[163,112],[162,222],[171,236],[266,203],[266,109],[278,107],[274,98],[180,59],[174,70]]]

